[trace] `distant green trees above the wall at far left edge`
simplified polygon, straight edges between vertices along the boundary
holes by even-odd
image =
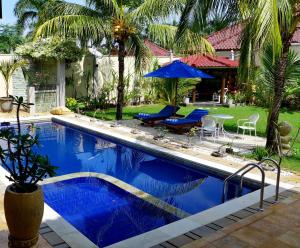
[[[24,42],[20,28],[16,25],[0,25],[0,53],[11,53]]]

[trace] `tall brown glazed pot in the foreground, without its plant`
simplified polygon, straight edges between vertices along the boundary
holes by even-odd
[[[44,213],[42,188],[36,186],[32,193],[16,193],[13,184],[4,195],[5,218],[9,230],[9,247],[33,247],[38,241],[38,231]]]

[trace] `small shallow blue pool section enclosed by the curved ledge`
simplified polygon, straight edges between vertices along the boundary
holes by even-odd
[[[43,190],[46,203],[99,247],[178,220],[98,178],[47,184]]]

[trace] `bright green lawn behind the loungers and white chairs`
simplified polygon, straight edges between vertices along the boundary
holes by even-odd
[[[145,113],[157,113],[164,106],[155,104],[155,105],[142,105],[142,106],[128,106],[124,108],[123,119],[128,120],[132,119],[133,115],[140,112]],[[181,107],[178,111],[178,114],[186,115],[190,113],[193,109],[198,108],[195,106]],[[255,106],[246,106],[246,107],[235,107],[235,108],[225,108],[225,107],[210,107],[210,114],[230,114],[235,118],[233,120],[228,120],[225,122],[225,128],[227,130],[236,131],[236,121],[238,119],[247,118],[249,115],[258,112],[260,114],[260,119],[257,124],[257,134],[259,136],[265,136],[265,128],[267,123],[267,109],[255,107]],[[94,116],[94,112],[88,112],[87,115]],[[99,119],[103,120],[114,120],[115,119],[115,109],[107,109],[101,112],[97,112],[95,115]],[[288,121],[293,125],[292,135],[296,135],[297,129],[300,127],[300,112],[299,111],[288,111],[282,110],[280,114],[280,120]],[[300,141],[298,139],[296,145],[296,155],[291,158],[285,158],[282,165],[283,167],[300,171]]]

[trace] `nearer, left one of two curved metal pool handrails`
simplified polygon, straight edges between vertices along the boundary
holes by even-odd
[[[223,188],[223,202],[226,201],[226,195],[227,195],[227,185],[228,185],[228,181],[230,179],[232,179],[233,177],[237,176],[240,172],[243,172],[241,174],[241,183],[240,185],[242,185],[242,179],[244,177],[244,175],[248,172],[250,172],[251,170],[253,170],[254,168],[257,168],[260,172],[261,172],[261,183],[260,183],[260,203],[259,203],[259,208],[262,211],[263,210],[263,201],[264,201],[264,186],[265,186],[265,172],[264,170],[261,168],[260,164],[255,164],[255,163],[249,163],[246,164],[245,166],[243,166],[241,169],[237,170],[235,173],[231,174],[230,176],[228,176],[225,180],[224,180],[224,188]]]

